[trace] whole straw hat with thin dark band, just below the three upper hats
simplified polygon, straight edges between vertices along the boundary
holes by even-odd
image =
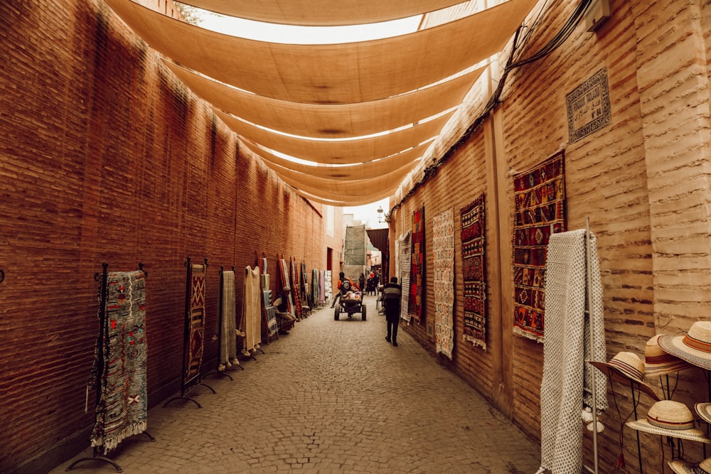
[[[646,419],[628,421],[631,429],[672,438],[711,443],[711,438],[696,427],[691,410],[683,403],[661,400],[651,406]]]

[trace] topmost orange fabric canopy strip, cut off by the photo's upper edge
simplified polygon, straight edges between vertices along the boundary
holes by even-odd
[[[463,0],[183,0],[183,4],[218,14],[303,26],[378,23],[425,14]]]

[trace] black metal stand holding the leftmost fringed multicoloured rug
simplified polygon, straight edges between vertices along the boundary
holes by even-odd
[[[109,335],[109,321],[107,321],[106,317],[106,299],[108,296],[108,289],[107,289],[107,281],[108,281],[108,276],[109,273],[107,271],[109,264],[107,262],[102,263],[103,271],[102,273],[95,273],[94,274],[94,281],[100,281],[100,286],[99,286],[99,311],[98,311],[98,316],[99,316],[99,335],[97,336],[97,349],[100,348],[100,350],[96,351],[95,357],[95,364],[96,367],[98,367],[100,370],[97,370],[96,372],[96,378],[95,378],[95,385],[96,387],[96,404],[101,403],[101,394],[102,394],[102,383],[105,383],[105,377],[102,373],[104,370],[108,370],[107,366],[105,365],[105,360],[106,357],[109,355],[108,354],[108,348],[106,345],[106,341],[108,340],[108,335]],[[144,273],[144,278],[148,277],[148,272],[144,271],[143,269],[143,264],[139,263],[138,264],[139,270],[143,271]],[[0,283],[5,278],[4,272],[0,271]],[[87,404],[88,404],[88,397],[89,397],[89,391],[87,387]],[[96,424],[96,414],[94,414],[94,423]],[[156,441],[156,438],[151,436],[151,434],[148,431],[142,431],[141,434],[144,434],[148,436],[148,438],[151,441]],[[99,448],[100,446],[94,446],[92,450],[92,457],[90,458],[80,458],[75,460],[73,463],[71,463],[65,470],[72,470],[75,465],[84,462],[85,460],[98,460],[101,461],[102,463],[107,463],[110,464],[116,469],[117,473],[122,473],[123,469],[121,468],[120,465],[116,463],[116,461],[107,458],[106,456],[100,456],[99,454]]]

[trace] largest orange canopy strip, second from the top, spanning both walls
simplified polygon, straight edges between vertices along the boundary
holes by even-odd
[[[220,82],[289,102],[349,104],[434,84],[500,52],[536,1],[509,0],[415,33],[331,45],[247,40],[131,0],[106,3],[152,48]]]

